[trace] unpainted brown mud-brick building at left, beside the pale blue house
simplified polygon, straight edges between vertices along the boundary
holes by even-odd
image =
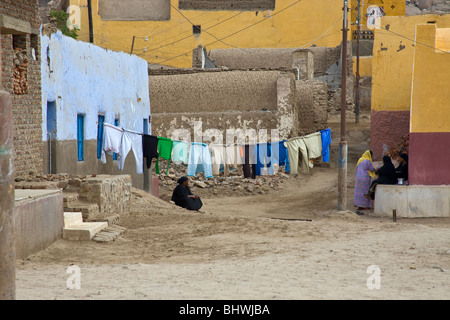
[[[13,101],[16,180],[43,172],[38,1],[0,2],[1,90]]]

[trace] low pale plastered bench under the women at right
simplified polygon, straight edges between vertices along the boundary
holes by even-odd
[[[378,185],[374,215],[400,218],[450,217],[450,186]]]

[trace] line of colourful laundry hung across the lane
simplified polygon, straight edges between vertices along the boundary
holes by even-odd
[[[168,160],[166,175],[170,162],[180,162],[188,165],[187,175],[193,176],[199,166],[207,178],[218,175],[220,166],[243,165],[245,177],[255,177],[267,168],[273,174],[273,165],[285,166],[286,172],[298,172],[299,154],[302,155],[302,171],[307,173],[312,167],[310,159],[321,157],[329,161],[329,145],[331,130],[329,128],[305,136],[261,142],[256,144],[206,144],[172,140],[165,137],[152,136],[145,133],[119,128],[109,123],[103,123],[101,137],[101,157],[106,163],[106,154],[117,155],[118,168],[123,170],[125,158],[133,150],[136,160],[136,172],[143,173],[144,157],[147,158],[147,168],[150,169],[152,159],[156,158],[155,171],[159,174],[160,158]],[[272,148],[273,147],[273,148]]]

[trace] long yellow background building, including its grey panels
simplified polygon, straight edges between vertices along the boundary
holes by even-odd
[[[93,38],[96,45],[124,52],[133,47],[133,54],[151,64],[175,67],[191,67],[192,50],[198,45],[208,50],[335,47],[342,39],[342,3],[92,0]],[[79,8],[79,40],[89,41],[87,0],[70,4],[72,18]]]

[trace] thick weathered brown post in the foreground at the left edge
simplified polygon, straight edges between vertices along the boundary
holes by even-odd
[[[1,35],[0,35],[1,38]],[[0,65],[1,65],[0,48]],[[1,84],[0,69],[0,84]],[[0,300],[16,298],[12,100],[0,90]]]

